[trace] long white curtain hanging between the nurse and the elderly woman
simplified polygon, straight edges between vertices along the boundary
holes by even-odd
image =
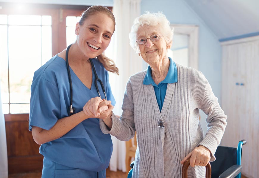
[[[119,76],[110,74],[110,85],[113,95],[116,99],[116,105],[113,112],[116,115],[122,113],[122,101],[124,90],[129,77],[138,71],[143,70],[143,60],[130,47],[129,32],[134,19],[140,15],[141,0],[114,0],[113,14],[116,20],[115,32],[106,55],[116,62],[119,68]],[[109,54],[108,54],[109,53]],[[125,165],[125,142],[119,141],[112,136],[113,154],[110,160],[110,170],[121,170],[126,172]]]

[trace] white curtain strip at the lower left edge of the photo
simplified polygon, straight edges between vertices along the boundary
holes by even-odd
[[[0,178],[8,177],[7,145],[5,134],[5,122],[2,109],[1,87],[0,87]]]

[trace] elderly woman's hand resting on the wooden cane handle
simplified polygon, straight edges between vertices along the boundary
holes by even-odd
[[[189,157],[190,159],[190,166],[194,167],[197,166],[206,166],[210,161],[210,150],[206,147],[200,145],[199,147],[194,148],[192,152],[190,152],[182,161],[183,164]]]

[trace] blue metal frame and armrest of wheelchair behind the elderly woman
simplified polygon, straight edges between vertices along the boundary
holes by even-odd
[[[238,142],[236,165],[231,166],[226,171],[224,171],[222,174],[220,174],[219,178],[233,178],[235,176],[236,176],[236,178],[241,178],[242,145],[244,145],[244,144],[246,144],[246,140],[241,140],[241,141]],[[132,169],[130,169],[127,178],[132,177],[133,166],[134,166],[134,161],[130,164],[130,167]]]

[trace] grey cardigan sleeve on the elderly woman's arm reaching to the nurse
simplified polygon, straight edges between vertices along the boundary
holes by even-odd
[[[120,118],[112,113],[112,128],[109,130],[103,120],[100,120],[100,128],[104,134],[111,134],[121,141],[128,141],[135,135],[134,106],[132,85],[127,82]]]

